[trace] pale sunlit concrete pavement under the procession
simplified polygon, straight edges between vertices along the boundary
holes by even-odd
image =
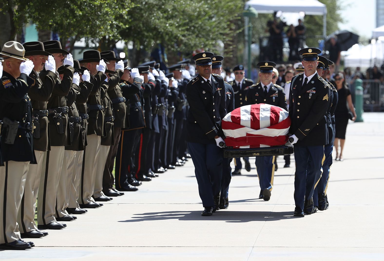
[[[189,160],[67,228],[48,231],[33,249],[0,251],[0,259],[384,260],[384,113],[366,113],[364,120],[348,125],[344,161],[331,168],[326,211],[292,216],[294,161],[283,168],[279,157],[270,201],[258,199],[252,163],[251,172],[232,177],[229,208],[202,217]]]

